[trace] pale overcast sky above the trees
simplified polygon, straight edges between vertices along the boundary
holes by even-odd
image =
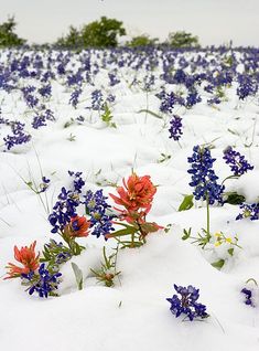
[[[185,30],[203,45],[234,41],[259,46],[259,0],[0,0],[0,22],[15,15],[17,33],[29,42],[53,42],[101,15],[123,22],[129,35],[164,40]]]

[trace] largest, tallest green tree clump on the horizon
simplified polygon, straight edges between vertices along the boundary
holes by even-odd
[[[80,30],[73,25],[66,36],[57,40],[58,46],[65,47],[116,47],[118,36],[126,35],[122,22],[101,17],[99,21],[85,24]]]

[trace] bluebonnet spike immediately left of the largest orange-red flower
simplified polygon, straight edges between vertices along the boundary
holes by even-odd
[[[90,215],[90,227],[94,228],[93,235],[99,237],[114,231],[112,219],[115,215],[107,214],[110,205],[106,202],[108,198],[102,194],[102,190],[97,190],[93,193],[88,190],[85,195],[86,213]]]

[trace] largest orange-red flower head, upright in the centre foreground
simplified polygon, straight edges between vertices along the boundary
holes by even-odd
[[[138,177],[136,173],[129,177],[127,183],[123,179],[123,185],[117,188],[119,198],[110,194],[114,201],[127,209],[128,212],[137,212],[144,209],[147,214],[152,205],[153,195],[157,188],[150,180],[150,176]]]

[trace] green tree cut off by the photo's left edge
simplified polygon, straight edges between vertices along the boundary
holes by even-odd
[[[19,46],[26,42],[14,33],[15,26],[14,17],[0,24],[0,47]]]

